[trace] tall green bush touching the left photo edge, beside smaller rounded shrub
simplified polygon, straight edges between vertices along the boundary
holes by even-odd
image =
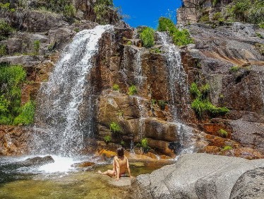
[[[21,89],[25,81],[25,70],[20,65],[0,66],[0,124],[11,125],[20,114]]]

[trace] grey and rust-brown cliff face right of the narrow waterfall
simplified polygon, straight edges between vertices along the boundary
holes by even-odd
[[[190,25],[188,30],[196,42],[183,52],[190,83],[210,84],[210,101],[230,110],[222,119],[204,118],[199,124],[200,130],[212,135],[205,135],[208,145],[223,147],[224,143],[221,146],[215,136],[220,137],[219,131],[224,129],[229,139],[263,153],[264,57],[256,48],[258,43],[263,45],[263,40],[256,36],[263,30],[242,23],[216,28]],[[237,70],[232,71],[233,68]],[[239,147],[231,142],[225,144]]]

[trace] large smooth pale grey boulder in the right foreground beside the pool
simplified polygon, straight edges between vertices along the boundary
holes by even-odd
[[[133,198],[263,198],[263,160],[184,154],[132,182]]]

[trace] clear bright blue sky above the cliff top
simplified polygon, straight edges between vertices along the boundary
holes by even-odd
[[[157,28],[160,16],[171,15],[176,23],[176,8],[181,6],[181,0],[114,0],[114,6],[120,6],[121,13],[129,16],[124,21],[132,27],[148,25]]]

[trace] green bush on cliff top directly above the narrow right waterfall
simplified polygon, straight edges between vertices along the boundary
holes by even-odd
[[[161,17],[159,19],[159,25],[157,30],[168,31],[169,35],[172,36],[172,40],[175,45],[188,45],[190,43],[193,43],[193,39],[188,33],[188,30],[179,30],[169,18]]]

